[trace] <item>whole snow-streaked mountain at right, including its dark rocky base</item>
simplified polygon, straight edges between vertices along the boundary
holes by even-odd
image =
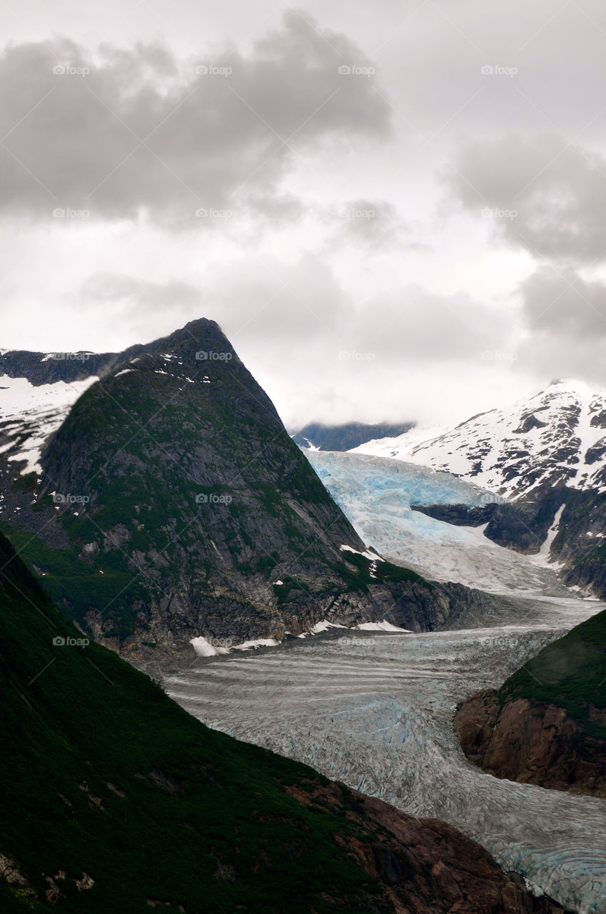
[[[409,444],[403,436],[359,450],[490,490],[498,497],[483,507],[419,507],[449,523],[485,524],[485,536],[500,546],[541,553],[568,586],[606,596],[606,394],[559,381],[510,409]]]

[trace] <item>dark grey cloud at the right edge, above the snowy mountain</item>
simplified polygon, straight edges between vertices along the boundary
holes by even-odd
[[[561,136],[507,136],[467,146],[450,180],[464,207],[544,259],[606,255],[606,158]]]

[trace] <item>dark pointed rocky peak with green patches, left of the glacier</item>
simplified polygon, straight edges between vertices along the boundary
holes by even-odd
[[[21,379],[28,396],[87,387],[56,405],[36,447],[8,441],[0,528],[58,607],[133,662],[191,654],[193,639],[206,654],[281,641],[324,620],[427,630],[493,600],[367,552],[213,321],[85,360],[99,378],[48,385],[51,361],[19,354],[11,373],[37,382]]]

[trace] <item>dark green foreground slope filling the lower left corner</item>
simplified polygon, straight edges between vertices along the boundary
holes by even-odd
[[[4,914],[555,914],[450,825],[206,728],[0,535]]]

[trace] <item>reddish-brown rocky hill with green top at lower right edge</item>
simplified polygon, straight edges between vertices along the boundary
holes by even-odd
[[[548,644],[455,726],[473,764],[498,778],[606,797],[606,611]]]

